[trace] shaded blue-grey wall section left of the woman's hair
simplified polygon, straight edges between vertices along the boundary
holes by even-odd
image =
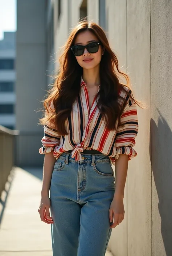
[[[42,107],[39,101],[47,89],[44,0],[17,0],[16,40],[17,165],[36,166],[42,159],[38,145],[44,133],[37,125],[42,113],[36,109]]]

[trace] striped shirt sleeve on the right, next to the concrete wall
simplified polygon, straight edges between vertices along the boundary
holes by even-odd
[[[121,115],[121,121],[124,123],[123,127],[117,128],[115,147],[116,147],[116,159],[119,158],[119,154],[127,154],[128,160],[136,157],[137,153],[133,149],[135,145],[135,138],[138,134],[138,116],[136,103],[130,99],[124,108]]]

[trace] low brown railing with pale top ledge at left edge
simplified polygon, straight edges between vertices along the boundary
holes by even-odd
[[[16,135],[19,135],[18,130],[0,125],[0,196],[14,166]]]

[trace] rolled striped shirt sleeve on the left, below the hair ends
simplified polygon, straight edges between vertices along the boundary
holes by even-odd
[[[44,126],[44,137],[41,142],[42,147],[39,149],[40,154],[50,153],[60,144],[60,136],[58,135],[57,130],[54,129],[52,123],[47,123]]]

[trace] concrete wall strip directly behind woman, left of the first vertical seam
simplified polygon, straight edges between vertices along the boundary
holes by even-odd
[[[125,71],[127,66],[126,0],[106,1],[106,13],[108,13],[106,17],[108,41],[118,57],[121,70]],[[126,212],[124,220],[120,226],[112,230],[108,244],[115,256],[127,256],[127,184],[124,191],[124,208]]]

